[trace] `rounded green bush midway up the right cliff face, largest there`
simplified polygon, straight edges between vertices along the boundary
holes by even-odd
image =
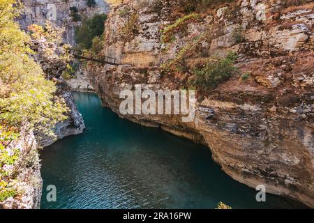
[[[227,81],[237,72],[234,63],[237,55],[229,52],[225,58],[214,56],[201,69],[195,69],[195,86],[197,89],[212,90]]]

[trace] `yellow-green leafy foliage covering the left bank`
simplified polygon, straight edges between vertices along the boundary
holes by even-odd
[[[15,196],[11,183],[14,164],[20,151],[12,146],[23,128],[53,135],[52,128],[66,118],[66,105],[54,97],[54,82],[45,79],[43,70],[29,57],[31,38],[20,30],[15,18],[20,3],[0,0],[0,200]],[[36,26],[38,31],[43,31]],[[46,27],[47,30],[50,26]],[[45,33],[45,32],[43,32]],[[49,38],[57,39],[53,35]],[[42,35],[38,32],[34,35]],[[27,151],[25,152],[27,153]]]

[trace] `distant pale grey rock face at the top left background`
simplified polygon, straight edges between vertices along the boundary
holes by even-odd
[[[96,0],[96,6],[87,6],[86,0],[22,0],[24,3],[24,13],[20,17],[20,24],[23,29],[27,29],[30,24],[45,24],[45,20],[50,20],[58,26],[66,28],[64,40],[70,45],[75,45],[74,28],[80,22],[74,22],[70,16],[70,8],[76,7],[80,15],[91,17],[95,14],[107,13],[109,5],[103,0]]]

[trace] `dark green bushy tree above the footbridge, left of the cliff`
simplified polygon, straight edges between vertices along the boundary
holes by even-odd
[[[94,15],[84,19],[81,26],[75,28],[75,41],[80,49],[91,49],[93,39],[103,34],[107,15]]]

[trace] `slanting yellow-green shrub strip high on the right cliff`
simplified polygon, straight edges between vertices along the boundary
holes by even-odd
[[[161,31],[161,41],[163,43],[168,43],[173,40],[173,35],[178,31],[181,31],[184,26],[188,24],[188,22],[193,22],[200,18],[200,15],[197,13],[191,13],[189,15],[184,15],[184,17],[179,18],[174,24],[170,24],[166,26],[165,29]]]

